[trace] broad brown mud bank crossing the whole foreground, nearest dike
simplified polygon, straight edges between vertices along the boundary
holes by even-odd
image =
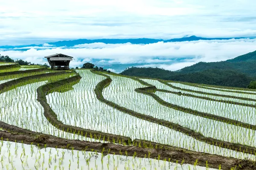
[[[2,122],[0,122],[0,125]],[[9,125],[12,126],[12,125]],[[20,129],[19,127],[17,127]],[[15,128],[11,128],[15,129]],[[20,129],[23,130],[23,129]],[[23,144],[35,144],[41,148],[63,148],[74,149],[82,151],[93,151],[98,153],[116,154],[122,156],[137,156],[140,158],[151,158],[157,160],[165,160],[184,164],[194,164],[198,159],[198,166],[206,166],[218,169],[221,165],[222,170],[230,170],[232,167],[237,167],[237,170],[255,170],[255,161],[235,159],[231,157],[224,157],[212,155],[208,153],[194,152],[175,147],[162,147],[162,148],[143,148],[139,146],[122,146],[113,143],[100,143],[100,142],[87,142],[80,140],[62,139],[51,135],[42,133],[35,133],[24,130],[23,133],[11,133],[7,131],[0,131],[0,138],[3,141],[18,142]],[[151,142],[152,143],[152,142]],[[149,144],[149,143],[148,143]],[[154,144],[154,143],[152,143]],[[168,149],[166,149],[168,147]]]

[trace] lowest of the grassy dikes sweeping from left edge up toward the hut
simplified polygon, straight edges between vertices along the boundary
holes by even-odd
[[[38,74],[38,75],[33,75],[33,76],[21,77],[19,79],[14,79],[14,80],[11,80],[9,82],[5,82],[5,83],[0,84],[0,94],[3,93],[5,91],[5,89],[10,88],[13,85],[17,85],[21,82],[26,82],[28,80],[38,79],[38,78],[42,78],[42,77],[57,76],[57,75],[60,75],[60,74],[67,74],[67,72],[66,71],[60,71],[60,72],[55,72],[55,73]]]

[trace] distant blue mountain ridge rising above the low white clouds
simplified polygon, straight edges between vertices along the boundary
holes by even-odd
[[[150,39],[150,38],[137,38],[137,39],[97,39],[97,40],[88,40],[88,39],[79,39],[79,40],[64,40],[64,41],[57,41],[57,42],[46,42],[49,45],[54,47],[73,47],[74,45],[79,44],[91,44],[95,42],[102,42],[105,44],[122,44],[122,43],[131,43],[131,44],[151,44],[157,42],[183,42],[183,41],[197,41],[197,40],[230,40],[230,39],[242,39],[244,37],[230,37],[230,38],[204,38],[204,37],[182,37],[182,38],[174,38],[170,40],[163,40],[163,39]],[[251,38],[253,39],[253,38]],[[44,44],[30,44],[30,45],[2,45],[0,48],[4,49],[12,49],[12,48],[23,48],[23,47],[31,47],[31,46],[38,46],[43,47]]]

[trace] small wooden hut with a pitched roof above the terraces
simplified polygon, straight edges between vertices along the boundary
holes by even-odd
[[[47,58],[51,69],[54,70],[67,70],[69,69],[70,61],[73,60],[73,57],[64,55],[64,54],[52,54]]]

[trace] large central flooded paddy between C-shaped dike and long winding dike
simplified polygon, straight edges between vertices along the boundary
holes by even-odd
[[[99,102],[96,100],[93,89],[105,77],[93,74],[89,70],[78,70],[78,72],[82,79],[78,84],[73,85],[73,90],[64,93],[53,92],[47,95],[47,102],[58,115],[58,119],[64,124],[128,136],[132,140],[144,139],[226,156],[236,157],[241,155],[241,153],[236,153],[236,151],[225,150],[200,142],[168,127],[138,119]],[[123,87],[125,88],[126,85]],[[116,92],[111,93],[119,96],[115,94]]]

